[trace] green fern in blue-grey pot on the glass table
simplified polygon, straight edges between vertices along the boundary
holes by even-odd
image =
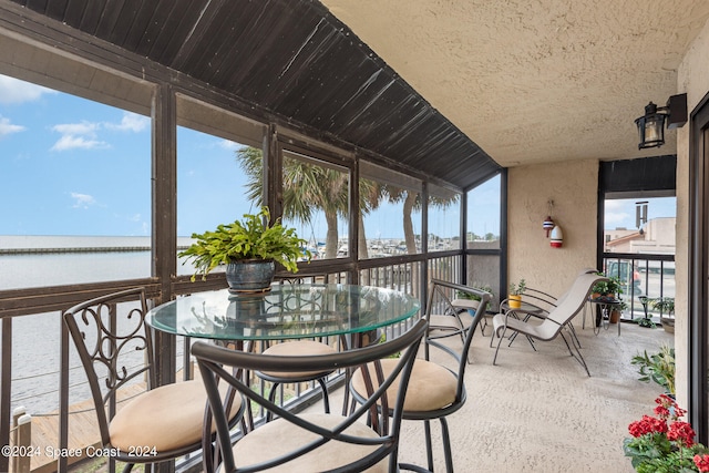
[[[310,260],[306,240],[277,219],[273,225],[268,207],[258,214],[245,214],[242,220],[218,225],[214,232],[193,234],[196,241],[179,253],[193,259],[195,274],[204,279],[219,265],[226,265],[229,291],[261,292],[270,289],[278,263],[290,273],[298,271],[298,260]],[[186,261],[185,261],[186,263]]]

